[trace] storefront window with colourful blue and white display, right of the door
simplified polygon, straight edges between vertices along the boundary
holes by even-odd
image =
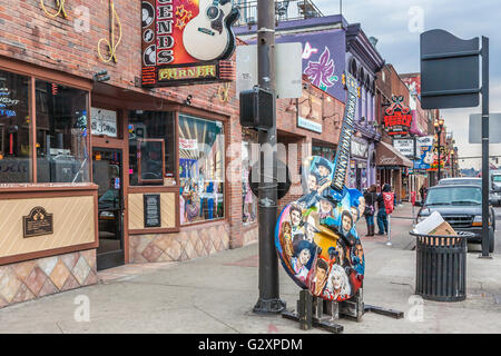
[[[223,123],[180,115],[181,225],[224,217],[224,177]]]

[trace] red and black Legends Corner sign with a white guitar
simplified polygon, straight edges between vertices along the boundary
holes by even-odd
[[[235,79],[230,0],[143,0],[141,9],[144,87]]]

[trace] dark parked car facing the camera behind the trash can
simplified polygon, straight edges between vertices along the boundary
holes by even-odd
[[[473,233],[469,243],[482,243],[482,189],[477,185],[438,185],[428,190],[424,204],[418,212],[421,222],[433,211],[440,212],[455,231]],[[491,209],[492,211],[492,209]],[[494,251],[494,215],[489,214],[489,251]]]

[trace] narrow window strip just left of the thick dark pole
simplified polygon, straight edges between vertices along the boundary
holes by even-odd
[[[250,190],[248,174],[253,161],[253,144],[258,144],[257,132],[243,129],[242,134],[242,184],[243,184],[243,217],[244,225],[257,221],[257,198]]]

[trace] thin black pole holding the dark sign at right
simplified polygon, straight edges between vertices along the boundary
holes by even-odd
[[[489,38],[482,36],[482,255],[489,257]]]

